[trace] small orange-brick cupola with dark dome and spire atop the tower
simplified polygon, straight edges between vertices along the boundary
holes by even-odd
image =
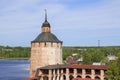
[[[42,32],[50,32],[50,24],[47,21],[47,10],[45,9],[45,21],[42,24]]]

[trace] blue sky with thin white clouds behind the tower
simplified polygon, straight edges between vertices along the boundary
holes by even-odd
[[[44,9],[64,46],[120,46],[120,0],[0,0],[0,45],[29,47]]]

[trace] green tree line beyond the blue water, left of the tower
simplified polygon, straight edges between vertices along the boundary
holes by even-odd
[[[30,48],[29,47],[9,47],[0,46],[0,58],[1,59],[29,59]]]

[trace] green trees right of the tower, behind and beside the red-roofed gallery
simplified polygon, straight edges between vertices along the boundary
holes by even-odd
[[[100,62],[106,64],[109,69],[106,71],[106,80],[120,80],[120,46],[108,47],[63,47],[63,60],[76,53],[78,58],[83,57],[82,64]],[[108,60],[107,56],[116,56],[116,60]]]

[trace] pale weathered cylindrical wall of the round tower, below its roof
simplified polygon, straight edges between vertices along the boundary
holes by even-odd
[[[35,76],[39,67],[62,64],[62,44],[61,43],[32,43],[31,44],[30,77]]]

